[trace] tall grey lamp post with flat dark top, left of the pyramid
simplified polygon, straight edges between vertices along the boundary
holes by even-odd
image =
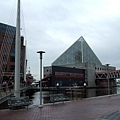
[[[44,51],[38,51],[37,53],[40,54],[40,106],[42,106],[42,54],[45,53]]]

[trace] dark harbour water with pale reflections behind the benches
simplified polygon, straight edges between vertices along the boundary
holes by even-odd
[[[76,91],[54,91],[54,92],[50,92],[50,91],[43,91],[42,92],[42,104],[47,104],[50,103],[50,98],[49,98],[49,94],[53,94],[53,93],[62,93],[64,92],[64,94],[69,98],[69,100],[79,100],[81,99],[81,93],[80,90],[76,90]],[[86,98],[90,98],[90,97],[96,97],[96,96],[103,96],[103,95],[108,95],[108,89],[107,88],[101,88],[101,89],[83,89],[82,90],[83,93],[86,93],[85,95],[83,95],[82,97],[86,97]],[[31,92],[30,92],[31,93]],[[110,94],[120,94],[120,87],[114,87],[114,88],[110,88]],[[33,100],[33,105],[40,105],[40,92],[34,92],[34,94],[32,94],[30,96],[30,99]],[[8,109],[8,105],[7,105],[7,101],[5,101],[4,103],[2,103],[0,105],[0,109]]]

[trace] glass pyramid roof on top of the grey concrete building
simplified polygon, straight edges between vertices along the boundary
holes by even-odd
[[[53,66],[63,66],[68,64],[94,63],[102,65],[95,53],[89,47],[87,42],[81,36],[73,45],[71,45],[62,55],[53,63]]]

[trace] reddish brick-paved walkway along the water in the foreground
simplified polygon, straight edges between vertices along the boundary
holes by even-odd
[[[120,120],[120,95],[87,98],[65,104],[1,110],[0,120]]]

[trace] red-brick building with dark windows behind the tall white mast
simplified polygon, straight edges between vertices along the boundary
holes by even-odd
[[[0,82],[14,78],[15,70],[15,32],[16,28],[0,23]],[[21,36],[21,79],[24,76],[25,46]]]

